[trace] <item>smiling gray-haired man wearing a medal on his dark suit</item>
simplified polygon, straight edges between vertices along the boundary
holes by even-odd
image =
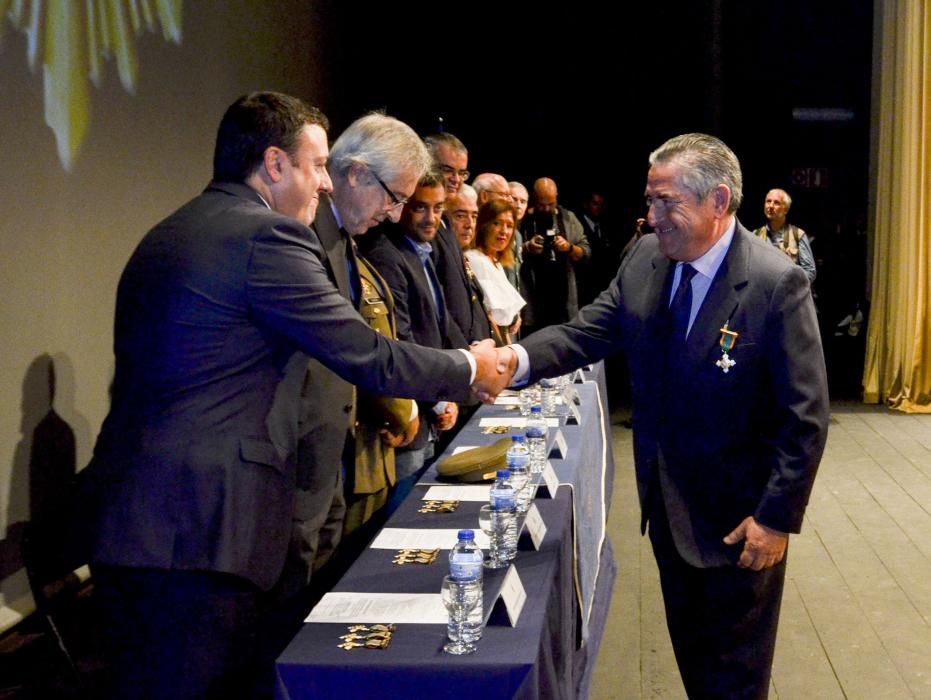
[[[624,351],[643,523],[686,691],[765,698],[788,533],[827,435],[817,320],[801,269],[737,222],[727,146],[687,134],[650,164],[656,235],[573,321],[501,361],[535,381]]]

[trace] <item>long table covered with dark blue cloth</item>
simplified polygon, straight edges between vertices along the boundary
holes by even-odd
[[[587,694],[603,631],[615,565],[604,522],[613,482],[609,420],[601,366],[575,384],[581,398],[579,425],[562,425],[568,451],[551,463],[561,486],[535,505],[546,536],[535,550],[526,536],[514,562],[526,592],[516,626],[500,624],[495,607],[504,571],[485,571],[486,626],[478,650],[467,656],[442,652],[441,624],[399,625],[387,649],[344,650],[337,645],[346,624],[307,623],[277,662],[279,698],[483,697],[573,698]],[[486,444],[484,419],[516,415],[484,406],[450,445]],[[551,429],[550,431],[554,431]],[[424,490],[436,482],[428,471],[392,515],[390,528],[478,529],[481,503],[463,501],[454,513],[419,513]],[[450,546],[453,542],[450,543]],[[447,572],[447,551],[429,566],[392,563],[395,552],[365,550],[334,587],[353,593],[437,593]],[[380,620],[390,622],[391,620]]]

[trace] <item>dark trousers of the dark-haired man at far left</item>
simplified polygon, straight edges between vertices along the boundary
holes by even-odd
[[[109,698],[251,698],[271,695],[261,668],[266,596],[216,572],[95,565]]]

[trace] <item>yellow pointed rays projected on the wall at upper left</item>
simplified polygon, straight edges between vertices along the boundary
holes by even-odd
[[[55,133],[58,157],[71,166],[90,123],[90,83],[99,87],[102,64],[115,59],[120,83],[136,90],[136,38],[161,29],[181,43],[182,0],[0,0],[4,19],[26,35],[29,67],[42,56],[45,122]]]

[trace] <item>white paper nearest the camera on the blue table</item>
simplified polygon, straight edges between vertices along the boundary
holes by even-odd
[[[304,622],[410,623],[445,625],[439,593],[327,593]]]

